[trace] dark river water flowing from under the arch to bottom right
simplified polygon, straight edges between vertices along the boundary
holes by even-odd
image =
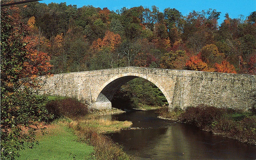
[[[131,130],[108,134],[129,155],[148,160],[256,159],[256,145],[216,136],[190,125],[157,118],[155,111],[135,111],[104,119],[132,121]]]

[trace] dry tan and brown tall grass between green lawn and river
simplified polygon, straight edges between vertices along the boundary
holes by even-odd
[[[92,122],[94,121],[94,122]],[[122,124],[124,123],[124,124]],[[71,122],[69,127],[76,130],[80,142],[86,142],[94,147],[94,156],[98,160],[130,160],[122,147],[114,143],[109,137],[102,133],[117,131],[129,127],[131,122],[118,122],[108,120],[89,120],[87,122]]]

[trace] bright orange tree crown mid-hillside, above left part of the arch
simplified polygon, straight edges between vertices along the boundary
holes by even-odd
[[[103,40],[98,38],[93,41],[92,48],[95,50],[100,50],[102,47],[109,47],[111,52],[116,51],[116,47],[121,43],[121,37],[119,34],[115,34],[111,31],[106,31]]]

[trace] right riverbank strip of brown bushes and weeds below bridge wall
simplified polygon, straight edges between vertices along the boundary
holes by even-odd
[[[240,142],[256,144],[256,112],[216,108],[206,105],[188,107],[185,110],[174,108],[168,112],[164,107],[158,110],[160,117],[185,122],[216,135],[236,139]]]

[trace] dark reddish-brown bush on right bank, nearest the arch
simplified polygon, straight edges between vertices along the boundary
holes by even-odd
[[[214,123],[226,117],[226,109],[206,105],[188,107],[181,114],[181,121],[195,125],[203,130],[211,130]]]

